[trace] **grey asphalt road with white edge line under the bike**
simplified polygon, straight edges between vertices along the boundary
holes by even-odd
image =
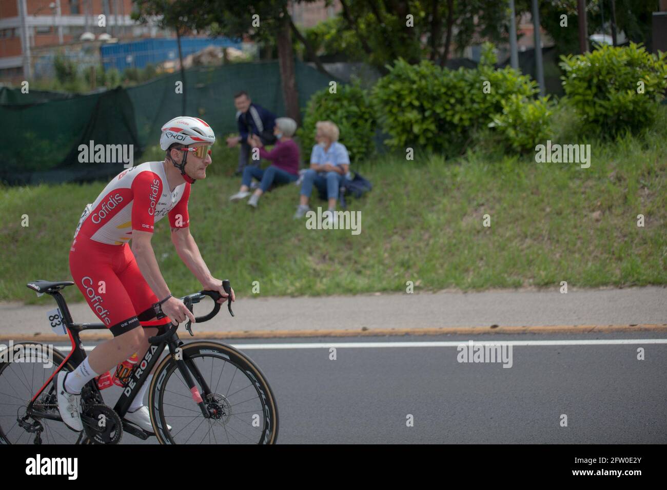
[[[514,342],[511,357],[506,350],[511,367],[459,362],[457,346],[470,339],[232,345],[259,365],[275,393],[278,443],[667,443],[667,334],[474,336],[474,343]],[[571,343],[554,345],[560,341]],[[644,360],[637,359],[640,348]],[[103,392],[108,405],[114,390]],[[125,434],[121,443],[156,441]]]

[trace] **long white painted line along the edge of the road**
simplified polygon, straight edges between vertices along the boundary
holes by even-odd
[[[373,349],[386,347],[459,347],[469,345],[470,341],[450,342],[317,342],[317,343],[274,343],[274,344],[229,344],[241,351],[252,349]],[[473,342],[473,345],[512,345],[514,347],[556,347],[567,345],[643,345],[667,344],[667,339],[609,339],[609,340],[511,340],[506,342]],[[187,345],[187,344],[186,344]],[[69,352],[69,345],[55,346],[63,352]],[[92,351],[94,347],[84,347],[85,351]]]

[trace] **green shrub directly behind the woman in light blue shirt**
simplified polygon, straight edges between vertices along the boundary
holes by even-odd
[[[297,131],[301,140],[303,157],[309,158],[315,144],[315,123],[331,121],[338,125],[340,138],[350,153],[352,163],[370,157],[374,153],[376,120],[368,93],[358,84],[338,85],[337,93],[329,89],[313,93],[305,109],[303,125]]]

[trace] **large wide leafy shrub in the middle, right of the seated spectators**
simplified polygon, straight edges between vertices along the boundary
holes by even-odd
[[[372,103],[394,148],[419,146],[445,151],[466,144],[503,110],[510,95],[532,97],[537,84],[506,67],[494,69],[492,45],[485,45],[476,69],[441,69],[430,61],[410,65],[398,59],[376,83]]]

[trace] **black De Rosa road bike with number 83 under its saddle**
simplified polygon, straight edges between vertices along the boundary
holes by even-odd
[[[60,290],[71,281],[33,281],[27,287],[53,296],[62,318],[49,318],[67,329],[71,352],[64,355],[43,343],[19,342],[0,353],[0,443],[117,444],[123,432],[146,440],[153,434],[125,421],[139,388],[157,364],[148,390],[148,408],[155,437],[161,444],[273,444],[278,436],[278,411],[271,387],[259,367],[241,351],[215,341],[183,343],[178,325],[158,327],[149,348],[129,375],[113,407],[105,405],[97,380],[81,391],[83,431],[63,423],[57,406],[56,375],[73,371],[86,353],[79,333],[106,329],[102,323],[74,323]],[[223,281],[229,294],[229,281]],[[213,301],[207,299],[209,297]],[[213,303],[210,320],[220,310],[217,291],[199,291],[181,298],[190,311],[195,303]],[[231,296],[227,301],[231,311]],[[59,316],[59,315],[56,315]],[[193,335],[191,322],[185,328]],[[165,347],[169,352],[163,354]],[[11,350],[11,352],[9,352]],[[51,367],[45,367],[47,364]]]

